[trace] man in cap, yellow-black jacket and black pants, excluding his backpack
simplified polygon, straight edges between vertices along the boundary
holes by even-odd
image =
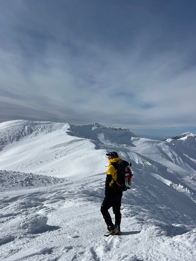
[[[101,205],[101,213],[107,224],[108,231],[105,236],[109,235],[120,235],[120,224],[121,224],[121,198],[123,192],[120,188],[116,187],[117,180],[117,163],[121,160],[118,157],[116,151],[111,151],[106,154],[109,159],[109,166],[105,181],[105,198]],[[108,212],[108,209],[112,207],[113,213],[115,215],[115,224],[112,222],[112,218]]]

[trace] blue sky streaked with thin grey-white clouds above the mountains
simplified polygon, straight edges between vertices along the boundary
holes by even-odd
[[[1,1],[0,122],[196,134],[196,1]]]

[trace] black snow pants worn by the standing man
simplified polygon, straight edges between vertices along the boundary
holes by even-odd
[[[112,207],[113,213],[115,215],[115,225],[118,225],[120,228],[121,224],[121,198],[123,196],[123,192],[120,191],[119,193],[116,194],[111,194],[105,196],[103,203],[101,205],[101,213],[103,215],[103,218],[105,220],[105,223],[107,226],[113,226],[112,223],[112,218],[108,212],[108,209]]]

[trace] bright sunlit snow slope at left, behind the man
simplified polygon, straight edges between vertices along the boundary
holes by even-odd
[[[5,146],[0,151],[1,168],[56,177],[78,175],[80,169],[80,177],[83,177],[92,170],[89,161],[94,155],[95,173],[103,172],[102,161],[106,163],[103,151],[97,154],[90,139],[71,136],[69,129],[69,124],[51,122],[0,124],[1,144]]]

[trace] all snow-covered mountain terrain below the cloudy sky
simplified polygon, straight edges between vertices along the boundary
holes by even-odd
[[[2,123],[0,135],[1,260],[196,260],[194,136],[160,142],[30,121]],[[134,176],[122,234],[106,238],[100,205],[112,150],[132,161]]]

